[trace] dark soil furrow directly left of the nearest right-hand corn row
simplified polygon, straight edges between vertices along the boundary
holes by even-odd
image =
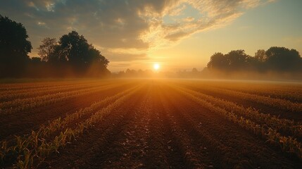
[[[180,101],[181,97],[172,96],[176,101]],[[191,103],[191,101],[185,101],[185,99],[183,99],[182,105],[187,108],[187,111],[182,112],[180,120],[185,125],[191,125],[192,130],[206,138],[203,142],[207,141],[211,147],[215,148],[213,156],[219,157],[221,154],[219,158],[222,159],[217,160],[222,161],[220,164],[228,165],[221,165],[220,168],[278,168],[280,165],[287,168],[298,168],[301,166],[300,162],[284,157],[279,149],[270,148],[259,137],[237,127],[215,112]]]

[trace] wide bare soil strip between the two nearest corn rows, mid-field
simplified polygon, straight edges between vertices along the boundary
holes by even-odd
[[[149,82],[40,168],[299,168],[265,140]]]

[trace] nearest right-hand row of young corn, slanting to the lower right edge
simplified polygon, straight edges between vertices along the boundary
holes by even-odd
[[[298,142],[293,137],[282,136],[277,130],[272,129],[271,127],[265,127],[265,125],[259,125],[258,123],[253,122],[252,120],[246,119],[241,115],[237,115],[234,111],[227,111],[225,108],[221,108],[216,104],[212,104],[210,101],[206,101],[204,99],[200,99],[194,94],[189,92],[185,92],[184,90],[177,89],[184,96],[187,96],[192,101],[200,104],[204,108],[208,110],[219,113],[224,116],[227,120],[232,121],[233,123],[237,123],[241,127],[246,130],[253,132],[254,134],[260,135],[267,139],[267,142],[270,144],[274,144],[280,146],[282,151],[288,152],[290,154],[295,154],[298,158],[302,159],[302,144]]]

